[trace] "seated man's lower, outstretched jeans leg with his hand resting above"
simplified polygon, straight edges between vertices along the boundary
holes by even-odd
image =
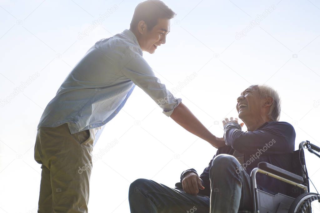
[[[188,194],[182,188],[170,188],[153,180],[137,179],[129,188],[131,213],[209,212],[210,198]]]

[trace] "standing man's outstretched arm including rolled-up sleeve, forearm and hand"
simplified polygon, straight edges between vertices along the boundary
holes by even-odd
[[[121,60],[121,72],[143,89],[162,109],[163,113],[171,117],[190,133],[208,141],[215,148],[226,146],[223,138],[217,138],[181,103],[175,98],[164,84],[155,76],[152,68],[139,55],[137,47],[127,48]]]

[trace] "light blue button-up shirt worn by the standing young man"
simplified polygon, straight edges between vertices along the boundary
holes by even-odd
[[[137,38],[130,30],[96,42],[63,81],[46,106],[40,126],[68,123],[70,133],[95,128],[95,141],[121,110],[135,85],[142,88],[166,116],[180,104],[155,76],[142,57]],[[143,103],[137,103],[137,106]]]

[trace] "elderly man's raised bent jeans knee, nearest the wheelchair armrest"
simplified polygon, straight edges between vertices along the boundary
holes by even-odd
[[[210,213],[236,213],[252,210],[253,196],[250,175],[232,155],[220,154],[210,169]]]

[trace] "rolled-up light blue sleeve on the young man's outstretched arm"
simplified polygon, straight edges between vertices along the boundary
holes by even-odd
[[[155,76],[137,47],[126,48],[120,68],[123,75],[145,91],[163,109],[166,116],[171,116],[173,110],[181,103],[181,98],[175,98]]]

